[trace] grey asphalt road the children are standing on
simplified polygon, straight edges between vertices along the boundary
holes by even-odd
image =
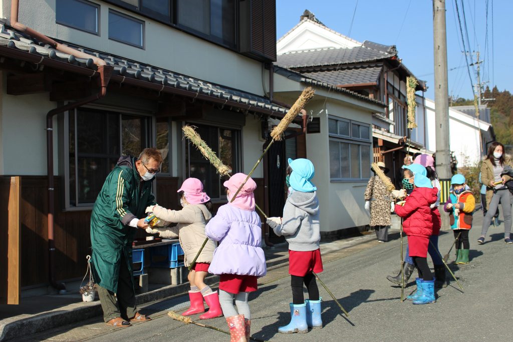
[[[294,342],[512,340],[513,245],[504,243],[502,224],[498,228],[491,226],[486,243],[478,245],[482,212],[475,213],[474,222],[470,231],[470,264],[452,264],[453,251],[449,259],[449,267],[464,292],[451,279],[447,288],[438,291],[436,304],[412,305],[407,300],[401,303],[400,287],[392,286],[385,278],[388,274],[396,275],[399,270],[400,239],[395,233],[386,244],[372,240],[323,257],[324,272],[320,277],[349,312],[349,317],[341,314],[319,284],[324,300],[324,328],[321,330],[307,334],[278,333],[278,327],[288,324],[290,318],[290,278],[286,266],[270,270],[262,279],[259,291],[250,296],[252,335],[263,340]],[[452,241],[452,232],[443,231],[440,236],[442,254],[447,253]],[[412,276],[410,280],[405,296],[415,288],[415,278]],[[182,312],[187,304],[180,303],[183,300],[181,296],[150,305],[146,312],[151,313],[153,320],[133,327],[113,330],[101,319],[93,319],[24,340],[229,341],[229,336],[221,332],[184,325],[169,318],[167,309],[174,306],[177,312]],[[223,317],[201,323],[227,330]]]

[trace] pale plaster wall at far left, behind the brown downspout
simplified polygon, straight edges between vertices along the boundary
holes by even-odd
[[[5,86],[5,77],[4,77]],[[4,87],[5,89],[5,87]],[[7,95],[2,92],[2,150],[4,175],[46,174],[46,113],[56,104],[48,93]],[[57,167],[57,120],[53,120],[54,174]]]

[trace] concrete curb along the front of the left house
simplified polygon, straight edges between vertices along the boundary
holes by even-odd
[[[373,235],[373,234],[372,234]],[[354,240],[348,241],[344,248],[349,248],[362,243],[366,243],[374,237],[359,237]],[[286,244],[286,243],[284,243]],[[276,245],[276,247],[280,247]],[[272,248],[271,248],[272,250]],[[324,254],[329,254],[336,251],[336,249],[327,248],[323,251]],[[288,263],[288,254],[272,258],[266,262],[267,268],[276,268]],[[212,275],[205,278],[205,284],[213,285],[219,282],[219,277]],[[184,283],[180,285],[170,285],[157,290],[149,291],[136,295],[138,305],[150,303],[151,301],[167,298],[177,294],[185,294],[189,290],[189,284]],[[80,302],[70,304],[52,311],[44,312],[37,315],[18,315],[0,320],[0,341],[9,340],[12,338],[21,338],[24,336],[32,335],[45,330],[57,328],[60,326],[73,324],[85,319],[102,316],[102,306],[100,301],[93,302]]]

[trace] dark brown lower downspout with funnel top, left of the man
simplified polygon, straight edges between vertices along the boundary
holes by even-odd
[[[80,106],[84,106],[90,102],[104,97],[107,94],[107,85],[109,84],[110,76],[112,74],[112,67],[100,66],[98,67],[98,73],[100,74],[102,87],[100,92],[86,97],[80,101],[54,108],[46,114],[46,164],[48,176],[48,279],[50,285],[59,291],[66,291],[66,286],[63,283],[57,283],[55,280],[55,242],[53,223],[53,216],[55,213],[55,191],[53,182],[53,116]]]

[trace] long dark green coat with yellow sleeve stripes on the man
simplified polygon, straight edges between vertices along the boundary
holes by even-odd
[[[135,158],[122,156],[109,173],[91,213],[92,270],[96,284],[117,291],[122,253],[132,274],[132,242],[138,228],[128,226],[155,205],[151,180],[143,181]],[[131,277],[133,279],[133,277]],[[133,280],[132,280],[133,283]]]

